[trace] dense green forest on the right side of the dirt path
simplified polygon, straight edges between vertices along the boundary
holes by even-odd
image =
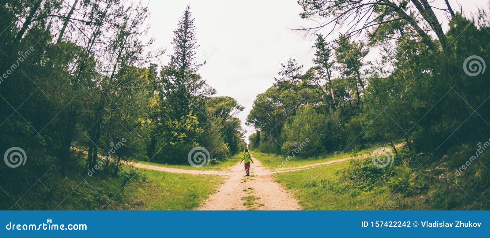
[[[310,158],[405,143],[403,151],[393,147],[392,167],[353,162],[343,180],[361,190],[388,183],[414,197],[445,187],[432,209],[470,207],[484,196],[490,187],[490,156],[483,152],[490,145],[488,10],[466,17],[447,0],[434,7],[427,0],[298,3],[300,17],[319,23],[297,29],[315,38],[314,67],[294,59],[282,64],[248,115],[246,123],[257,129],[249,147]],[[444,13],[447,27],[434,11]],[[370,50],[379,51],[371,61]],[[479,200],[484,209],[488,197]]]

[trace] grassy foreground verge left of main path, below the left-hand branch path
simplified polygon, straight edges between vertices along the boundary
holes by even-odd
[[[18,192],[0,194],[1,210],[192,210],[221,183],[218,175],[176,174],[123,166],[118,176],[83,167],[55,169]]]

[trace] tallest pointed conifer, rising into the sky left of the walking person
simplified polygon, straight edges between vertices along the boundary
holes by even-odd
[[[196,62],[199,45],[190,5],[184,10],[173,33],[173,54],[169,55],[169,65],[163,67],[160,73],[163,131],[165,141],[171,146],[167,148],[170,151],[167,155],[184,158],[190,148],[199,145],[196,140],[206,123],[203,97],[214,95],[216,91],[197,73],[205,62]],[[164,159],[168,161],[171,158]]]

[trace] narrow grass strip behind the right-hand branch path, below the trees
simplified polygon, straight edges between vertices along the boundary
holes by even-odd
[[[400,142],[398,142],[400,143]],[[395,143],[396,144],[396,143]],[[300,157],[293,157],[287,164],[286,166],[283,165],[283,162],[286,161],[287,156],[282,156],[282,155],[274,155],[274,154],[267,154],[267,153],[262,153],[258,151],[252,151],[251,153],[254,155],[254,157],[257,157],[257,159],[262,162],[262,164],[265,167],[269,167],[270,169],[277,169],[279,166],[282,168],[288,168],[288,167],[298,167],[298,166],[306,166],[306,165],[311,165],[311,164],[317,164],[317,163],[322,163],[322,162],[328,162],[328,161],[333,161],[333,160],[340,160],[344,158],[349,158],[349,157],[354,157],[358,155],[364,155],[364,154],[369,154],[367,155],[370,156],[370,153],[378,147],[381,146],[386,146],[386,147],[391,147],[389,143],[380,143],[376,144],[373,146],[370,146],[366,149],[363,149],[361,151],[351,151],[351,152],[344,152],[344,153],[332,153],[332,154],[326,154],[326,155],[321,155],[321,156],[316,156],[316,157],[311,157],[311,158],[300,158]],[[301,152],[299,152],[301,153]]]

